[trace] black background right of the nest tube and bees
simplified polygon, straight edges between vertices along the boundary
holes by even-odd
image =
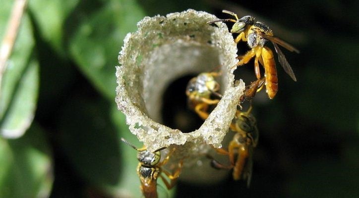
[[[177,197],[358,197],[359,23],[355,18],[359,3],[208,0],[190,4],[188,8],[204,6],[219,18],[230,18],[222,9],[239,17],[256,16],[300,53],[283,49],[298,82],[278,64],[277,96],[269,100],[263,92],[254,100],[260,138],[250,188],[229,175],[222,184],[210,187],[179,183]],[[169,8],[172,11],[175,8]],[[250,67],[248,72],[252,71]]]

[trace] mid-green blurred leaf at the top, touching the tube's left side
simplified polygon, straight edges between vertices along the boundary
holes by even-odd
[[[96,10],[88,7],[96,5]],[[144,16],[134,0],[81,1],[72,21],[76,21],[70,35],[70,53],[81,71],[108,99],[114,100],[115,66],[123,39],[136,30],[136,24]],[[78,23],[78,24],[77,24]]]

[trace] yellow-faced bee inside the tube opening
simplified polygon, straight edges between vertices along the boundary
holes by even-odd
[[[188,97],[188,106],[202,119],[207,119],[209,105],[219,102],[219,99],[211,99],[211,96],[222,97],[218,93],[220,85],[215,80],[215,77],[219,75],[220,73],[218,72],[200,73],[187,84],[186,95]]]

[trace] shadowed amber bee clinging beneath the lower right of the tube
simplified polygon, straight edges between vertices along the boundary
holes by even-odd
[[[233,179],[243,179],[247,181],[247,187],[249,187],[252,166],[253,166],[253,149],[258,144],[258,128],[255,117],[250,113],[252,107],[246,112],[237,110],[235,118],[231,124],[231,130],[236,132],[233,140],[230,142],[228,150],[224,148],[215,148],[215,150],[224,155],[229,156],[231,165],[224,165],[215,160],[212,156],[211,165],[217,169],[232,169]]]

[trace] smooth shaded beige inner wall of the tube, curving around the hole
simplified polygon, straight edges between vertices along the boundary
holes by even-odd
[[[150,62],[144,80],[144,100],[149,117],[160,123],[163,123],[162,95],[171,83],[220,65],[216,49],[193,41],[165,44],[153,51]],[[185,90],[177,92],[185,94]]]

